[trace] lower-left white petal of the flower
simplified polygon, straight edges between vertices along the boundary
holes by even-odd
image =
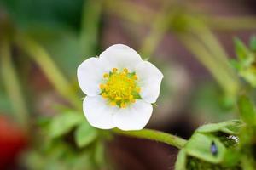
[[[113,124],[113,113],[116,112],[117,107],[107,105],[106,99],[103,99],[102,96],[85,97],[83,110],[91,126],[102,129],[115,127]]]

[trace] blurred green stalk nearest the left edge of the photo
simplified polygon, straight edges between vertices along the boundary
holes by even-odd
[[[20,88],[20,81],[15,70],[15,65],[11,61],[10,44],[3,41],[0,44],[0,68],[2,71],[3,85],[9,94],[9,99],[13,105],[15,118],[22,127],[28,129],[28,114],[26,102]]]

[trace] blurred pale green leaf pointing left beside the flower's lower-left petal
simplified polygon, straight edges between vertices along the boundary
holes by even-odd
[[[58,138],[70,132],[73,127],[84,121],[84,116],[75,111],[67,111],[61,115],[55,116],[50,123],[49,136]]]

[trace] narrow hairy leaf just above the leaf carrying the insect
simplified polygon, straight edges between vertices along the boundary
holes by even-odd
[[[240,131],[242,123],[240,120],[231,120],[227,122],[209,123],[199,127],[196,132],[200,133],[214,133],[223,132],[228,134],[237,134]]]

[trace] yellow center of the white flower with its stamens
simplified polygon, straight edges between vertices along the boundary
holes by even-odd
[[[136,99],[142,99],[139,95],[141,88],[137,86],[137,75],[128,69],[118,71],[113,68],[109,73],[103,74],[105,83],[100,84],[102,97],[108,99],[110,105],[125,108]]]

